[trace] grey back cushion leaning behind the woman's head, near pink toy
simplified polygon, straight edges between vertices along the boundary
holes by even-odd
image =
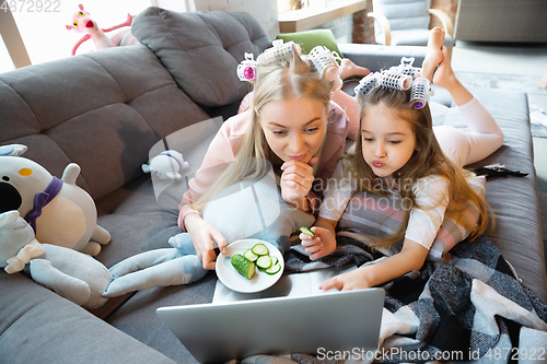
[[[271,46],[261,26],[244,12],[149,8],[133,20],[131,32],[156,54],[191,99],[208,106],[243,98],[251,84],[240,81],[237,64],[245,52],[257,57]]]

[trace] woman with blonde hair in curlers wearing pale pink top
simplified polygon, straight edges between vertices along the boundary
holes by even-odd
[[[236,180],[233,171],[224,171],[219,178],[213,166],[233,160],[268,160],[281,173],[282,199],[313,213],[312,185],[321,192],[342,155],[349,130],[346,113],[330,102],[331,82],[293,47],[290,59],[258,67],[251,107],[222,125],[179,206],[178,225],[189,233],[205,269],[214,269],[214,248],[224,251],[226,240],[201,219],[199,210]],[[238,171],[237,175],[245,174]]]

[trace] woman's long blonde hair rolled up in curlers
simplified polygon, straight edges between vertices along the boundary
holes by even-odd
[[[268,173],[275,155],[266,142],[259,124],[260,110],[267,103],[306,97],[319,101],[328,114],[330,90],[331,83],[326,77],[319,74],[305,56],[301,58],[295,49],[292,59],[258,68],[253,91],[251,122],[235,158],[225,166],[220,177],[193,204],[193,208],[202,211],[207,203],[228,186],[243,179],[259,179]],[[316,155],[321,154],[321,151],[322,148]],[[318,163],[314,165],[314,175],[317,169]]]

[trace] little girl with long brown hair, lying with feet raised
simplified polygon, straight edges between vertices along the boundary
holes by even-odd
[[[447,126],[433,128],[429,107],[414,108],[409,91],[376,85],[360,96],[360,136],[335,172],[333,180],[338,186],[328,186],[325,191],[319,218],[312,227],[316,237],[305,234],[300,237],[311,259],[333,253],[335,227],[352,193],[379,192],[380,184],[384,186],[384,193],[398,193],[401,200],[409,202],[404,209],[401,227],[383,242],[392,244],[404,237],[403,249],[382,262],[325,281],[321,286],[324,290],[371,287],[419,270],[444,215],[458,220],[461,202],[472,200],[479,207],[477,226],[465,226],[473,230],[470,237],[477,237],[486,228],[485,202],[466,183],[470,173],[462,167],[500,148],[503,133],[491,115],[455,78],[443,42],[442,30],[432,30],[422,77],[432,79],[451,93],[472,131]]]

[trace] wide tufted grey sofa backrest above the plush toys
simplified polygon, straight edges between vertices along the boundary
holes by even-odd
[[[0,74],[0,144],[28,145],[23,156],[57,177],[78,163],[94,199],[143,175],[161,138],[208,118],[142,45]]]

